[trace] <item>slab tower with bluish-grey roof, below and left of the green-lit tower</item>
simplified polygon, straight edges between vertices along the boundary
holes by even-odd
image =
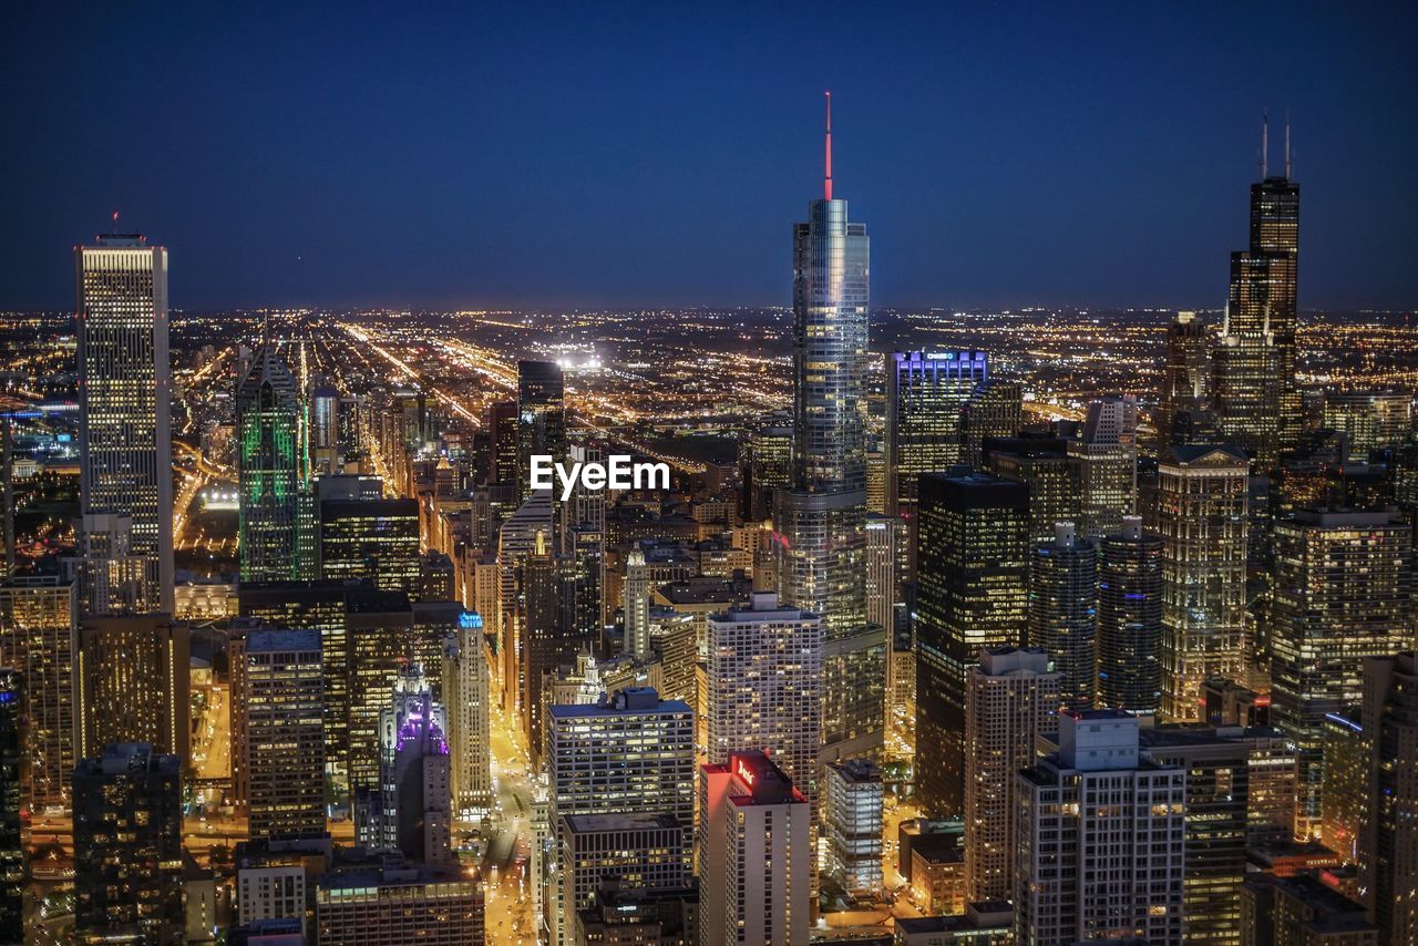
[[[242,723],[251,838],[325,830],[320,634],[255,628],[245,635]]]

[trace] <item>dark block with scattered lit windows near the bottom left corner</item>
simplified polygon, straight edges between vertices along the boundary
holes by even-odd
[[[79,942],[184,942],[182,757],[113,743],[74,769]]]

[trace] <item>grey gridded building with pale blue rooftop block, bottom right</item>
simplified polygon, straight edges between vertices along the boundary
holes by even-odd
[[[1139,755],[1136,716],[1062,713],[1015,791],[1017,943],[1183,942],[1187,772]]]

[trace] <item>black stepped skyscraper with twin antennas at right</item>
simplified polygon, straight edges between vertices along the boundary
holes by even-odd
[[[1285,173],[1268,173],[1268,132],[1261,180],[1251,184],[1249,247],[1231,254],[1231,295],[1212,373],[1222,431],[1261,469],[1273,467],[1300,433],[1295,383],[1300,187],[1290,180],[1289,128]]]

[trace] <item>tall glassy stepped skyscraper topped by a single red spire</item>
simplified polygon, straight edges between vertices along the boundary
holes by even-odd
[[[871,755],[885,726],[886,634],[866,624],[866,226],[827,177],[794,227],[793,486],[777,492],[778,593],[820,614],[822,757]]]

